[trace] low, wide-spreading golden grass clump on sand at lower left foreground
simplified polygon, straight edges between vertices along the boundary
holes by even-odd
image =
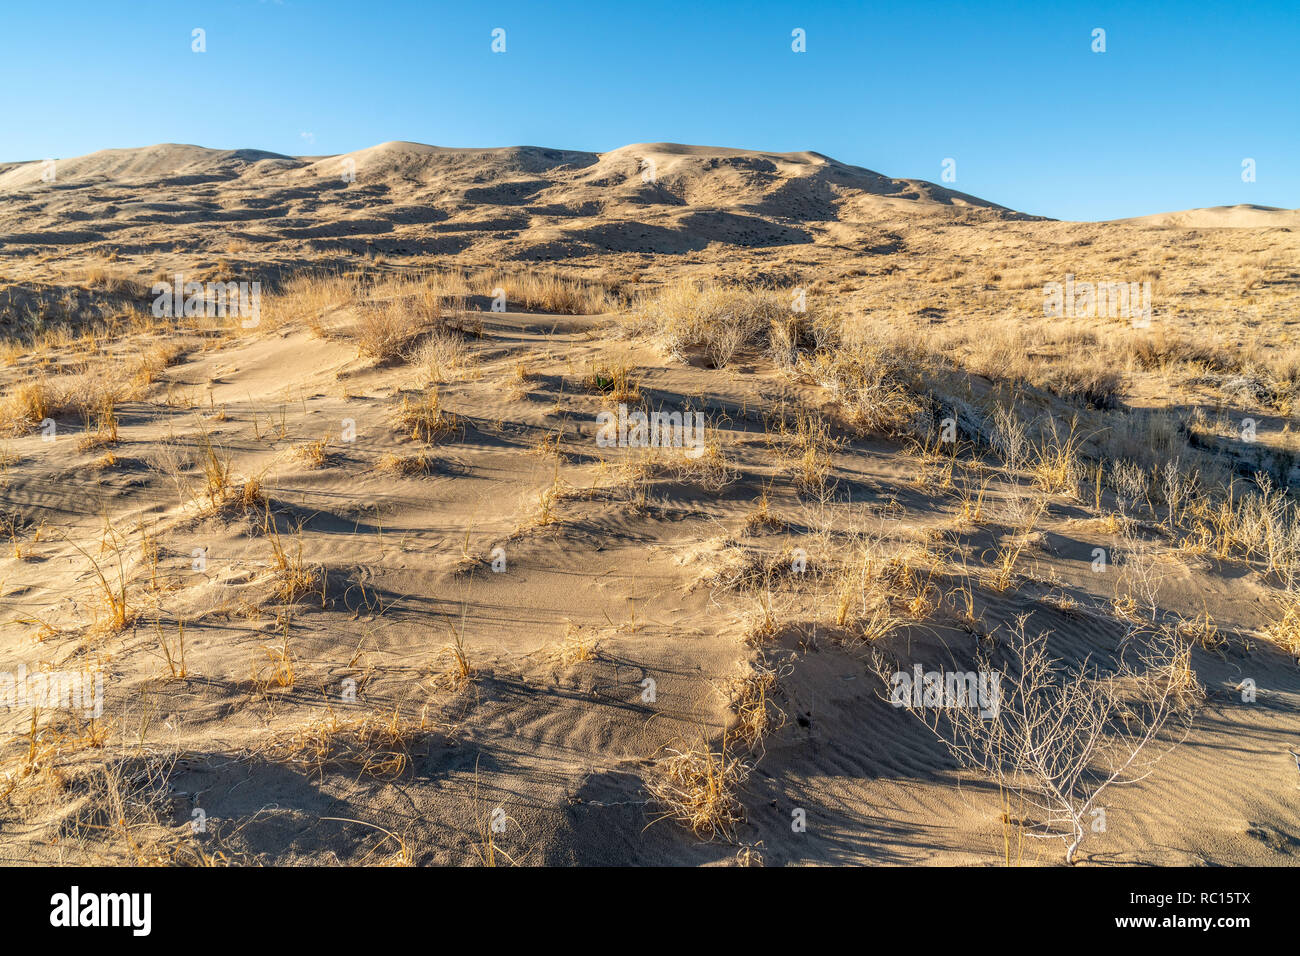
[[[330,710],[270,749],[278,758],[306,765],[321,777],[333,769],[391,780],[410,769],[413,750],[430,736],[425,714],[415,721],[394,708],[391,714],[341,718]]]

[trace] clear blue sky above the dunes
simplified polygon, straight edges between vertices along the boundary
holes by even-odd
[[[1300,206],[1300,0],[6,0],[0,23],[3,161],[670,140],[935,182],[952,157],[954,189],[1058,219]]]

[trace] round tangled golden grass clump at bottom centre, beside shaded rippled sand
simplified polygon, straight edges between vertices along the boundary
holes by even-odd
[[[718,750],[701,740],[693,748],[666,748],[654,761],[646,790],[663,808],[659,819],[673,819],[705,840],[729,839],[745,819],[738,791],[750,769],[729,752],[725,737]]]

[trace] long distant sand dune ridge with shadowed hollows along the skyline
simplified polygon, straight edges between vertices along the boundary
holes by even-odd
[[[0,173],[0,230],[12,256],[108,246],[156,256],[170,245],[166,229],[204,222],[221,229],[207,243],[213,252],[247,243],[263,261],[363,248],[572,260],[872,245],[879,225],[900,215],[1023,219],[812,152],[666,143],[590,153],[394,142],[298,159],[155,146],[58,160],[53,182],[42,181],[46,173],[43,163]]]

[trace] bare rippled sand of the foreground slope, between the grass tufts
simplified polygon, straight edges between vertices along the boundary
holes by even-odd
[[[8,507],[83,546],[92,546],[105,516],[124,532],[144,520],[160,535],[159,600],[168,618],[188,622],[191,676],[164,679],[143,585],[136,628],[110,640],[75,636],[92,613],[94,587],[87,561],[58,540],[36,545],[25,561],[4,561],[4,596],[12,609],[66,632],[39,644],[12,632],[0,663],[100,662],[114,719],[130,727],[152,714],[151,747],[185,754],[170,778],[179,817],[200,805],[213,821],[213,845],[244,860],[355,862],[374,849],[364,827],[321,819],[337,817],[399,832],[420,862],[471,862],[478,827],[498,806],[517,821],[500,845],[529,862],[725,862],[737,843],[759,842],[768,862],[1000,860],[997,793],[976,779],[958,783],[928,731],[876,696],[863,659],[838,648],[832,633],[818,636],[822,611],[798,588],[781,598],[783,636],[768,649],[789,661],[780,696],[789,719],[766,743],[748,788],[749,822],[734,843],[701,843],[670,822],[646,829],[656,817],[644,790],[647,757],[720,732],[729,721],[725,680],[754,653],[741,640],[745,600],[696,581],[723,536],[760,548],[794,540],[790,532],[744,531],[762,489],[777,489],[774,509],[792,528],[867,524],[902,540],[918,525],[941,523],[952,502],[915,489],[913,466],[896,447],[855,442],[836,460],[853,503],[819,512],[783,483],[774,485],[779,472],[757,441],[760,424],[738,411],[762,407],[776,386],[770,375],[755,369],[719,381],[715,372],[620,346],[644,369],[653,397],[714,395],[715,415],[731,410],[720,428],[738,470],[722,490],[655,480],[646,503],[636,505],[601,477],[590,451],[601,399],[582,394],[569,371],[608,351],[589,336],[592,328],[584,319],[491,316],[478,346],[481,375],[445,390],[462,428],[436,447],[428,476],[376,471],[380,455],[408,445],[390,424],[394,390],[408,372],[358,363],[350,349],[302,332],[176,367],[176,381],[212,382],[211,405],[124,408],[122,463],[109,472],[90,470],[91,455],[72,438],[16,440],[22,464],[9,471]],[[497,382],[521,359],[534,384],[511,395]],[[350,398],[341,397],[341,382]],[[355,444],[335,444],[324,468],[295,462],[302,440],[337,431],[343,418],[358,423]],[[148,463],[164,436],[192,447],[200,429],[230,450],[240,473],[264,473],[280,523],[290,533],[303,522],[304,553],[326,575],[324,606],[308,596],[292,611],[298,678],[290,691],[259,691],[251,682],[277,631],[277,615],[264,605],[268,546],[248,533],[256,516],[198,516]],[[529,451],[555,433],[566,453],[558,472],[552,459]],[[538,490],[556,473],[572,497],[555,524],[529,527]],[[991,498],[1000,494],[994,484]],[[1076,659],[1121,631],[1088,570],[1091,542],[1070,524],[1071,511],[1065,506],[1046,525],[1022,589],[979,601],[991,628],[1034,610],[1036,623],[1056,632],[1056,652]],[[503,546],[508,571],[493,574],[486,563],[459,570],[467,536],[481,562]],[[202,574],[188,567],[194,546],[208,549]],[[968,548],[978,553],[978,541]],[[1063,615],[1041,604],[1061,589],[1084,610]],[[1204,605],[1231,631],[1268,619],[1262,592],[1243,592],[1242,581],[1230,584],[1210,567],[1179,571],[1167,593],[1171,607]],[[970,635],[942,617],[936,623],[913,631],[913,658],[948,666],[966,659]],[[571,627],[588,635],[593,659],[563,659]],[[459,691],[437,678],[455,631],[480,669]],[[1282,747],[1294,736],[1300,671],[1261,644],[1234,646],[1222,658],[1199,653],[1196,665],[1212,696],[1192,736],[1147,782],[1117,792],[1108,804],[1110,829],[1091,845],[1089,860],[1284,862],[1300,849],[1292,835],[1300,788]],[[1258,682],[1260,706],[1234,705],[1242,675]],[[355,769],[320,775],[266,754],[277,735],[330,710],[346,714],[338,695],[350,676],[361,683],[363,708],[437,715],[438,731],[416,748],[412,771],[399,780],[377,782]],[[646,676],[658,683],[653,705],[641,700]],[[6,730],[21,734],[22,719],[10,714]],[[790,830],[796,808],[807,812],[807,832]],[[61,858],[57,845],[30,842],[48,831],[43,826],[10,830],[8,858]],[[1034,842],[1017,852],[1026,862],[1057,858]]]

